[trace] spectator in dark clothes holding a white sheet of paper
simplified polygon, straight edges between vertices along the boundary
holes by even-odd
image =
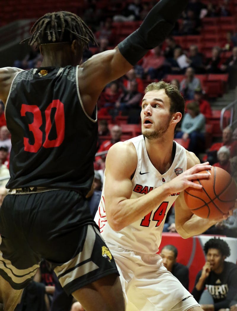
[[[183,53],[182,48],[174,49],[174,56],[168,60],[168,64],[170,65],[170,73],[184,73],[185,69],[189,66],[189,63],[187,62],[187,56]]]

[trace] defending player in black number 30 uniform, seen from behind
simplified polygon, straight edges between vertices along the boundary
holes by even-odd
[[[0,69],[0,98],[12,135],[9,195],[0,210],[0,298],[12,311],[41,258],[87,310],[124,310],[115,262],[85,196],[93,180],[97,99],[159,45],[187,0],[160,0],[115,49],[81,62],[94,36],[70,12],[47,13],[31,29],[42,67]],[[6,280],[6,281],[5,281]],[[14,290],[13,290],[14,289]]]

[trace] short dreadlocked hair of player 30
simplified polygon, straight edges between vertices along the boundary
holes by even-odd
[[[49,44],[58,42],[72,42],[80,39],[83,46],[88,48],[88,43],[98,45],[90,28],[76,14],[66,11],[46,13],[32,26],[31,37],[20,42],[29,40],[29,45]]]

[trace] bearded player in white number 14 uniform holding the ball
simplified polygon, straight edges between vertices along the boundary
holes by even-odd
[[[184,100],[176,86],[151,83],[142,100],[143,135],[116,143],[107,154],[95,221],[120,272],[127,311],[202,310],[157,254],[174,201],[176,230],[183,238],[201,234],[228,217],[202,219],[184,202],[183,190],[201,188],[192,180],[208,178],[208,173],[199,172],[211,165],[200,164],[173,141],[183,113]]]

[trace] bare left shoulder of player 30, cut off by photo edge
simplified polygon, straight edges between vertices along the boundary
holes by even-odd
[[[7,96],[10,91],[12,80],[17,74],[17,72],[22,71],[23,69],[16,67],[3,67],[0,68],[0,99],[5,105],[7,101]]]

